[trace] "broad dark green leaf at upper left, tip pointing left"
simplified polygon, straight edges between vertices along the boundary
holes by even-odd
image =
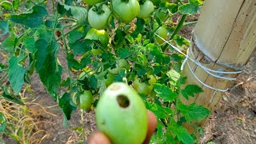
[[[47,14],[47,10],[43,6],[33,6],[32,11],[19,15],[12,15],[10,20],[33,28],[40,26]]]

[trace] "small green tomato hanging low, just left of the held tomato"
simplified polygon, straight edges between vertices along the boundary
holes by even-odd
[[[90,110],[93,100],[93,94],[91,94],[90,90],[83,91],[79,96],[79,108],[83,110]]]

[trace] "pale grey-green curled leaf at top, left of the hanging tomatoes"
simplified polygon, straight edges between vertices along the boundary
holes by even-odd
[[[77,23],[84,23],[87,18],[87,10],[84,7],[78,6],[68,6],[65,5],[63,2],[58,1],[58,13],[63,14],[63,8],[65,10],[70,10],[73,17],[77,20]]]

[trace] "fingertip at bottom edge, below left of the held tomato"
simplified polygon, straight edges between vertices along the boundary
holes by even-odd
[[[87,144],[110,144],[110,140],[102,132],[95,131],[93,134],[90,135]]]

